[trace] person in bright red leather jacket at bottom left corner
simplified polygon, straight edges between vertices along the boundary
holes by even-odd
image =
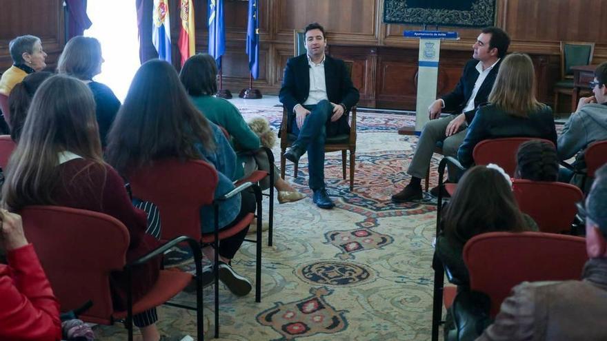
[[[59,302],[23,235],[21,217],[0,209],[0,240],[9,265],[0,265],[0,340],[60,340]]]

